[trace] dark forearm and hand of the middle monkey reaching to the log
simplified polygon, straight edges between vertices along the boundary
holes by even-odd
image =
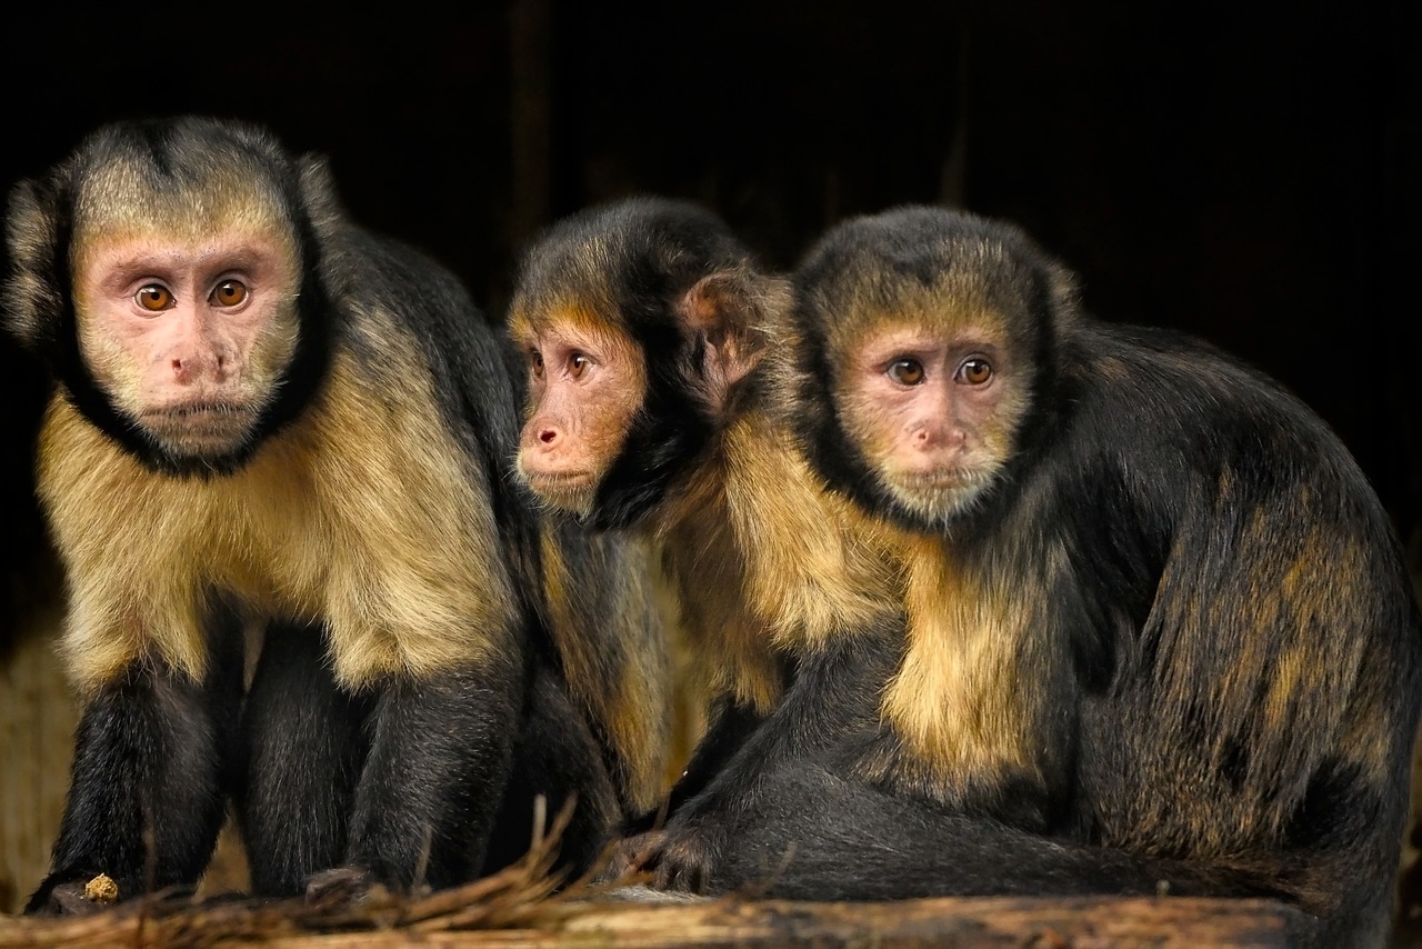
[[[781,704],[663,831],[627,838],[610,872],[650,871],[663,889],[701,892],[717,875],[737,815],[765,794],[761,775],[813,756],[879,721],[883,683],[899,662],[902,627],[842,636],[802,656]]]

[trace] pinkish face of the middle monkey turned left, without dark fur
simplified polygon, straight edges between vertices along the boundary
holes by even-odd
[[[572,309],[518,313],[510,330],[529,367],[518,472],[546,504],[587,516],[646,398],[641,349]]]

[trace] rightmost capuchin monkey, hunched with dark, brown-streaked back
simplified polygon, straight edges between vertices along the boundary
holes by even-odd
[[[1348,451],[1197,340],[1105,324],[1018,229],[828,232],[769,374],[897,531],[880,724],[761,775],[705,889],[1266,895],[1388,945],[1422,620]]]

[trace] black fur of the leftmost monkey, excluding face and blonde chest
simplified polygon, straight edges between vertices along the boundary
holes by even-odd
[[[495,656],[479,667],[418,680],[391,676],[346,691],[327,667],[321,617],[272,617],[240,711],[240,660],[215,663],[201,686],[161,664],[135,664],[84,710],[53,869],[28,911],[44,911],[57,886],[100,871],[119,881],[122,896],[195,885],[229,794],[239,805],[259,894],[294,894],[311,875],[340,866],[401,888],[469,879],[528,848],[536,794],[547,797],[549,815],[576,797],[563,855],[569,869],[582,871],[631,807],[627,775],[613,774],[626,771],[626,763],[565,680],[565,654],[540,592],[539,519],[510,471],[518,420],[508,353],[451,275],[347,221],[326,193],[321,169],[314,181],[323,193],[309,191],[313,159],[289,155],[260,129],[201,118],[125,124],[97,132],[43,181],[17,186],[11,240],[20,233],[18,215],[43,213],[51,232],[30,266],[17,265],[11,276],[17,287],[27,282],[33,306],[9,317],[7,329],[47,360],[61,393],[88,421],[154,478],[199,474],[137,434],[80,359],[68,240],[73,195],[92,168],[117,154],[146,154],[152,178],[181,188],[188,162],[209,151],[247,155],[253,174],[284,195],[304,276],[300,347],[262,420],[262,437],[202,477],[240,470],[262,451],[263,438],[299,418],[323,391],[331,353],[350,353],[361,371],[384,381],[392,371],[390,347],[405,346],[407,337],[380,322],[390,317],[365,313],[398,314],[419,346],[417,361],[429,367],[437,404],[428,410],[459,445],[458,464],[488,485],[501,538],[499,562],[485,569],[510,578],[516,619],[489,632]],[[408,450],[427,451],[418,444]],[[638,649],[660,650],[651,603],[643,586],[619,572],[629,568],[616,542],[569,535],[562,549],[576,583],[587,586],[574,586],[577,605],[603,610],[582,617],[579,635],[593,640],[590,649],[599,649],[603,617],[646,626],[638,636],[609,640],[606,672],[620,674]],[[602,551],[596,559],[594,549]],[[232,630],[218,622],[210,639],[216,650]],[[606,687],[602,680],[583,684]],[[648,686],[648,694],[658,689]],[[665,709],[644,711],[646,727],[664,736]]]

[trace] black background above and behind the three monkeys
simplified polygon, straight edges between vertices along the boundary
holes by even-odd
[[[0,14],[0,184],[114,118],[262,121],[495,317],[533,229],[603,198],[702,201],[774,266],[950,201],[1024,225],[1096,314],[1278,377],[1422,534],[1422,4],[112,6]],[[44,551],[43,378],[0,341],[11,576]]]

